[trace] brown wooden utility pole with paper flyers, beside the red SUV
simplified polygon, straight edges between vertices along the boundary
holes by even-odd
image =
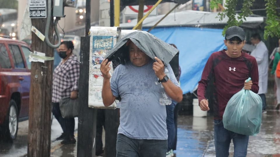
[[[50,0],[46,0],[46,4]],[[53,16],[51,16],[53,19]],[[32,25],[45,34],[46,18],[31,19]],[[49,39],[53,39],[53,20],[50,22]],[[31,50],[53,57],[53,49],[32,33]],[[53,61],[31,62],[29,98],[28,157],[50,156],[51,88]]]

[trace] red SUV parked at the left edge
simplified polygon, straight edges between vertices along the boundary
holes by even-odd
[[[18,122],[28,119],[30,48],[25,42],[0,38],[0,138],[14,140]]]

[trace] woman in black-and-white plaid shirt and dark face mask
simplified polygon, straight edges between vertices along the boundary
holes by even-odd
[[[71,41],[61,42],[58,54],[62,58],[53,72],[52,111],[53,115],[62,127],[63,133],[57,140],[63,140],[62,144],[75,143],[74,118],[62,118],[59,102],[62,98],[77,98],[80,63],[75,54],[72,53],[74,45]]]

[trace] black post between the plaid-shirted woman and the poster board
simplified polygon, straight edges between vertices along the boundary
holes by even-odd
[[[88,107],[88,81],[90,60],[90,0],[86,0],[85,36],[81,37],[81,63],[78,118],[77,157],[95,156],[96,109]]]

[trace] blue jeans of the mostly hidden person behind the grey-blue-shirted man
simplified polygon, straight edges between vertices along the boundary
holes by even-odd
[[[172,100],[170,105],[166,105],[166,126],[168,134],[167,151],[170,151],[174,147],[175,143],[176,127],[174,123],[174,108],[176,104],[177,102]]]

